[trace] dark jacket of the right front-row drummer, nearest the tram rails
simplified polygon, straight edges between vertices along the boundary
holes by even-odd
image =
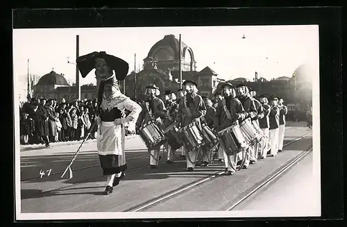
[[[223,106],[223,100],[225,100],[226,102],[226,108],[230,112],[231,119],[228,119],[228,116],[226,115],[226,111],[224,110]],[[226,97],[226,99],[223,100],[219,101],[214,117],[214,128],[216,129],[216,131],[221,131],[224,128],[228,128],[237,119],[243,121],[246,117],[246,112],[239,99]]]

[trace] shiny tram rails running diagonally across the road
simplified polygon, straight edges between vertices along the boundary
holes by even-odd
[[[306,135],[303,135],[302,137],[298,137],[296,138],[296,140],[292,140],[290,142],[287,142],[286,144],[283,144],[283,146],[288,146],[289,144],[293,144],[295,142],[298,142],[299,140],[302,140],[305,137],[309,137],[310,135],[312,135],[312,133],[308,133]],[[309,149],[310,151],[312,150]],[[283,167],[283,169],[280,169],[279,171],[276,171],[276,174],[273,176],[273,178],[275,178],[275,176],[279,176],[283,171],[285,171],[285,169],[289,169],[289,167],[291,167],[292,165],[294,165],[296,162],[298,162],[298,160],[301,160],[301,158],[303,157],[303,155],[307,154],[310,151],[303,151],[302,153],[300,153],[299,155],[297,155],[294,160],[292,160],[289,164],[285,165],[285,167]],[[206,183],[210,180],[213,180],[215,178],[218,178],[220,176],[222,176],[225,173],[225,171],[216,171],[213,174],[211,174],[210,176],[206,176],[204,178],[200,178],[198,180],[194,180],[191,183],[188,183],[186,185],[183,185],[181,187],[178,187],[178,189],[176,190],[171,190],[170,192],[164,193],[160,196],[157,196],[154,199],[150,199],[148,201],[145,201],[144,203],[140,203],[139,205],[135,205],[131,208],[128,208],[126,210],[123,210],[123,212],[141,212],[141,211],[145,211],[146,209],[152,208],[153,206],[159,204],[159,203],[163,203],[164,201],[167,201],[169,199],[174,199],[175,196],[177,196],[178,194],[181,194],[182,192],[188,192],[190,190],[194,190],[194,188],[196,188],[199,185],[202,185],[203,183]],[[272,178],[271,178],[272,179]],[[266,180],[266,183],[263,183],[261,185],[266,185],[268,183],[270,183],[271,180]],[[264,187],[264,186],[261,186]],[[257,190],[260,190],[259,187]],[[252,191],[251,193],[254,194],[257,190],[254,190],[254,192]],[[247,195],[247,198],[251,196],[251,194]],[[243,199],[239,199],[239,201],[237,201],[237,204],[242,203],[242,201],[244,201],[246,198]],[[236,203],[235,203],[236,204]],[[233,207],[235,207],[235,205],[230,206],[230,208],[233,209]]]

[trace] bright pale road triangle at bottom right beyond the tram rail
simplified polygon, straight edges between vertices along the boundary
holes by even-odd
[[[314,152],[314,151],[312,151]],[[312,152],[276,181],[257,191],[235,210],[271,210],[279,217],[320,216],[320,193],[314,186]]]

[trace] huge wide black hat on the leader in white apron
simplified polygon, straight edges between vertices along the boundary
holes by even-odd
[[[84,56],[80,56],[76,59],[78,70],[81,72],[81,76],[83,78],[85,78],[85,76],[87,76],[87,74],[89,74],[92,69],[94,69],[96,58],[105,59],[105,62],[108,64],[108,66],[111,67],[112,70],[115,70],[117,80],[124,81],[129,71],[128,62],[122,60],[121,58],[107,54],[105,51],[95,51],[93,53],[88,53]]]

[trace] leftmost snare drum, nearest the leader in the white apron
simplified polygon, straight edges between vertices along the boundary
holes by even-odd
[[[147,122],[139,129],[139,137],[141,137],[149,151],[151,151],[155,146],[161,146],[166,142],[164,132],[159,128],[155,120]]]

